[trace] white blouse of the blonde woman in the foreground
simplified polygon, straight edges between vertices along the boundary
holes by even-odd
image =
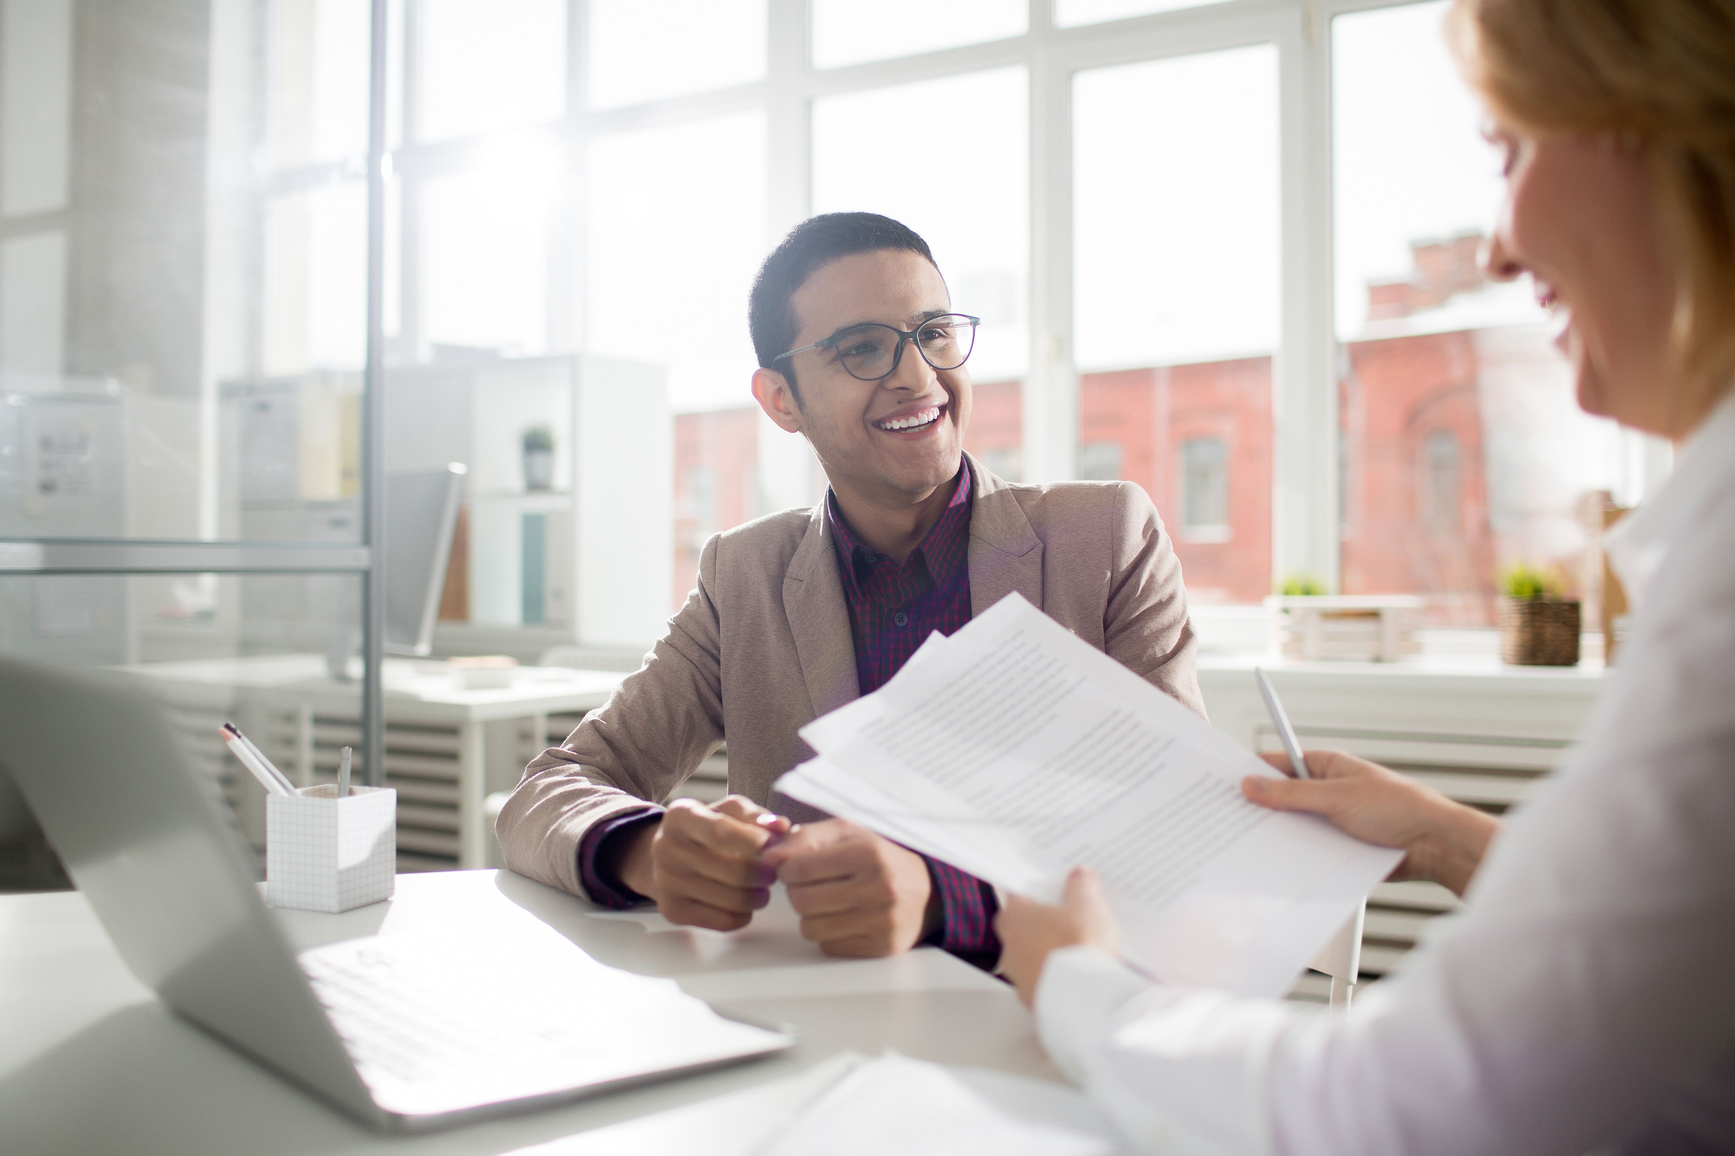
[[[1133,1142],[1735,1151],[1735,395],[1608,549],[1636,612],[1581,744],[1348,1014],[1050,957],[1043,1042]]]

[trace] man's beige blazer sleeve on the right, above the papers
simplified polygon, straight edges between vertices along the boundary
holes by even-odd
[[[1182,563],[1157,508],[1131,482],[1116,487],[1109,555],[1103,650],[1204,718]]]

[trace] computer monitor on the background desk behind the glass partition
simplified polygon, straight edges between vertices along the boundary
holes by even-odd
[[[425,655],[446,589],[446,560],[468,470],[385,475],[385,650]]]

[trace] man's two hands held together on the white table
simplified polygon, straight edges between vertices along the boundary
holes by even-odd
[[[926,861],[840,818],[796,825],[741,796],[675,799],[623,842],[618,879],[675,924],[746,927],[774,880],[828,955],[904,951],[940,919]]]

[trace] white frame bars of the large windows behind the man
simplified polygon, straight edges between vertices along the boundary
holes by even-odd
[[[269,0],[259,0],[269,3]],[[1204,7],[1060,28],[1053,0],[1027,0],[1027,31],[1003,40],[819,69],[812,64],[809,0],[767,0],[763,80],[607,109],[588,107],[583,62],[588,0],[567,0],[564,116],[531,128],[564,149],[569,196],[550,227],[548,348],[588,345],[586,237],[590,142],[614,133],[758,111],[767,123],[765,248],[807,218],[812,205],[814,101],[923,80],[1022,66],[1029,90],[1029,357],[1020,385],[1022,463],[1031,482],[1077,477],[1079,373],[1072,360],[1072,80],[1097,68],[1136,64],[1270,43],[1279,59],[1279,234],[1280,319],[1272,364],[1272,575],[1310,574],[1338,588],[1339,458],[1338,359],[1332,317],[1332,92],[1331,21],[1350,12],[1407,7],[1426,0],[1227,0]],[[401,16],[387,9],[401,3]],[[370,317],[370,350],[394,359],[427,355],[420,307],[422,196],[429,180],[458,173],[486,154],[489,135],[416,139],[420,0],[373,0],[371,109],[390,147],[383,168],[349,163],[278,170],[260,196],[331,179],[389,175],[399,182],[401,211],[392,239],[399,328],[392,338]],[[392,76],[387,92],[387,61]],[[380,107],[383,104],[385,107]],[[385,127],[385,111],[401,118]],[[373,184],[373,182],[370,182]],[[370,248],[378,248],[383,208],[371,206]]]

